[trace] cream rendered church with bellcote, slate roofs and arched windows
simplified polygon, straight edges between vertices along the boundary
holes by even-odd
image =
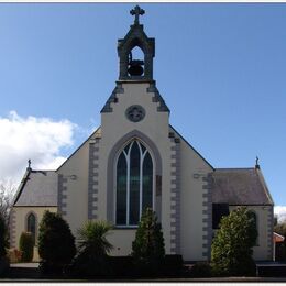
[[[23,231],[36,239],[50,210],[62,215],[75,237],[87,220],[109,221],[111,255],[129,255],[141,215],[151,207],[166,254],[208,261],[220,218],[246,206],[258,232],[254,258],[272,260],[274,202],[258,163],[213,167],[170,125],[169,108],[153,78],[155,38],[140,23],[144,10],[136,6],[131,14],[134,23],[118,41],[119,77],[100,127],[56,170],[29,165],[11,211],[11,248],[19,248]],[[133,58],[134,48],[143,59]]]

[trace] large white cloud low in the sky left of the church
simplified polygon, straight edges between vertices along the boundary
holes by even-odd
[[[57,168],[65,161],[61,150],[74,144],[76,128],[68,120],[22,118],[15,111],[0,117],[0,182],[19,184],[29,158],[32,168]]]

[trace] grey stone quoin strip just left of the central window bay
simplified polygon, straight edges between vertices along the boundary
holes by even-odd
[[[98,218],[98,185],[99,185],[99,141],[95,139],[89,143],[88,166],[88,219]]]

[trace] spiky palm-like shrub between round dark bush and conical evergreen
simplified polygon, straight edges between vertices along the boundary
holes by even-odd
[[[108,254],[112,245],[107,240],[112,226],[103,221],[88,221],[78,230],[79,253],[75,257],[70,272],[75,276],[94,277],[111,274]]]

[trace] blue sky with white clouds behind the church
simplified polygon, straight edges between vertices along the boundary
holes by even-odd
[[[0,3],[0,182],[57,168],[100,125],[132,3]],[[170,124],[215,167],[258,156],[286,218],[286,4],[141,3]]]

